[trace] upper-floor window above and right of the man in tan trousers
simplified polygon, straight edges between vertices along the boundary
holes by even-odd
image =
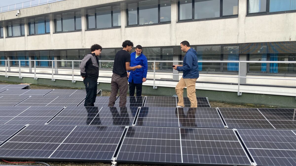
[[[180,0],[178,20],[199,20],[238,15],[238,0]]]

